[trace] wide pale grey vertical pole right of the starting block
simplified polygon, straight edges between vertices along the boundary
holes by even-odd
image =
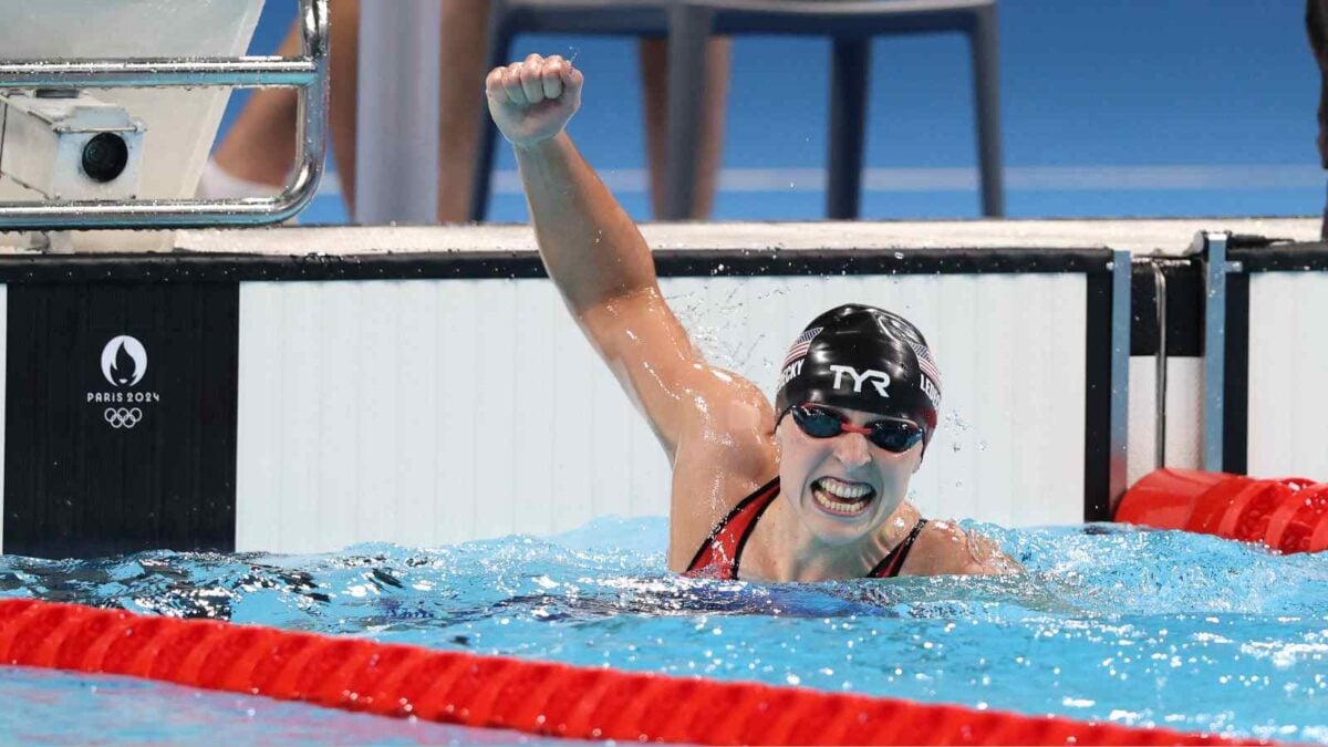
[[[441,27],[438,0],[360,5],[357,223],[437,222]]]

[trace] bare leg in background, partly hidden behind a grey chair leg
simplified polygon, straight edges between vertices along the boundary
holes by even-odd
[[[705,49],[705,101],[701,141],[697,144],[696,185],[692,187],[695,219],[710,217],[724,146],[724,105],[729,93],[732,41],[712,39]],[[659,215],[664,206],[664,126],[668,121],[668,41],[640,43],[641,81],[645,84],[645,148],[651,166],[651,206]]]

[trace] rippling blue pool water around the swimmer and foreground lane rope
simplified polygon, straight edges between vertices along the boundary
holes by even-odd
[[[1328,744],[1328,554],[1282,557],[1114,525],[981,529],[1029,572],[814,585],[696,581],[664,569],[665,520],[604,518],[547,540],[430,550],[5,557],[0,595]],[[0,739],[78,739],[66,731],[77,726],[61,723],[70,710],[122,723],[116,702],[127,691],[146,720],[126,726],[125,740],[481,738],[120,678],[0,669],[0,698],[28,703],[7,710]],[[105,715],[88,715],[97,708]],[[154,719],[155,710],[173,718]],[[117,734],[102,726],[97,738]]]

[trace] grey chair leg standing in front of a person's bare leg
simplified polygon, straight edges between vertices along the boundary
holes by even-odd
[[[705,100],[705,48],[712,12],[679,3],[668,11],[668,129],[664,136],[664,210],[660,218],[683,221],[692,214],[701,104]]]

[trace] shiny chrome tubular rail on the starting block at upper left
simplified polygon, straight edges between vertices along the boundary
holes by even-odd
[[[0,202],[0,231],[183,229],[280,223],[317,193],[327,150],[328,0],[300,0],[300,57],[0,61],[0,90],[84,88],[297,88],[296,167],[276,197]]]

